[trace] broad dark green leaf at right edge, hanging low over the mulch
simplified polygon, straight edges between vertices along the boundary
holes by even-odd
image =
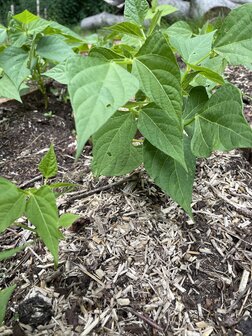
[[[226,84],[216,91],[195,116],[192,151],[208,157],[212,151],[252,147],[252,129],[243,115],[240,91]]]

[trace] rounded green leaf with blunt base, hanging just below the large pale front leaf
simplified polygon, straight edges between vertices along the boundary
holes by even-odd
[[[118,111],[94,134],[94,175],[124,175],[142,163],[142,148],[132,145],[136,131],[134,115]]]

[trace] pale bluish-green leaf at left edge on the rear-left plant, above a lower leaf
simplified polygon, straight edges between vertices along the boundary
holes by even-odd
[[[19,89],[21,83],[30,75],[27,68],[28,53],[21,48],[8,47],[0,54],[0,67]]]

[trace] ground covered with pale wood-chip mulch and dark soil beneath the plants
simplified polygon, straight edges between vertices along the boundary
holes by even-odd
[[[230,68],[227,76],[252,96],[252,72]],[[81,218],[64,232],[57,270],[39,243],[1,264],[0,287],[17,289],[0,335],[252,335],[252,168],[244,153],[198,161],[192,222],[143,170],[94,179],[88,145],[75,163],[71,108],[64,90],[50,87],[51,117],[38,92],[23,105],[0,105],[0,175],[40,184],[37,164],[54,143],[57,179],[80,185],[60,196],[60,212]],[[252,123],[249,98],[245,115]],[[13,227],[0,246],[30,238]]]

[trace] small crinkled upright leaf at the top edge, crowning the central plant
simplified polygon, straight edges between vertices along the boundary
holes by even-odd
[[[124,17],[127,21],[142,25],[149,10],[146,0],[126,0],[124,5]]]

